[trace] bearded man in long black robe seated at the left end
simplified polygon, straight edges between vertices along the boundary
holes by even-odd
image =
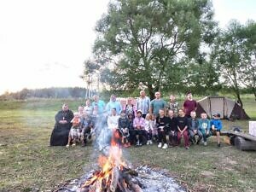
[[[65,146],[67,145],[68,134],[73,119],[73,112],[68,109],[66,103],[62,105],[61,111],[55,114],[55,127],[50,136],[50,146]]]

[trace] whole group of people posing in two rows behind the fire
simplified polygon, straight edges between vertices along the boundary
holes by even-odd
[[[102,127],[107,126],[118,136],[118,142],[124,147],[142,146],[157,143],[158,148],[175,147],[184,139],[184,147],[191,144],[207,145],[207,137],[217,136],[220,146],[222,122],[220,114],[207,119],[207,113],[196,118],[196,101],[192,94],[187,94],[183,106],[179,106],[174,95],[165,102],[160,92],[155,92],[154,100],[150,101],[144,90],[136,102],[128,98],[122,106],[115,95],[105,104],[99,96],[93,96],[93,102],[86,100],[85,106],[79,106],[79,112],[73,113],[67,107],[55,115],[55,128],[52,132],[50,145],[66,145],[69,148],[81,143],[85,146],[88,139],[100,136]]]

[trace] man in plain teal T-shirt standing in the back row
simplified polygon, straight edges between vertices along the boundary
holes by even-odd
[[[159,116],[160,109],[164,109],[164,113],[166,114],[166,102],[161,98],[160,92],[155,92],[155,99],[150,102],[149,113]]]

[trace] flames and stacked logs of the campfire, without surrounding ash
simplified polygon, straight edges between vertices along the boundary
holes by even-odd
[[[140,192],[143,184],[136,178],[138,173],[126,165],[119,146],[119,134],[114,132],[108,156],[100,155],[101,170],[93,173],[82,186],[84,192]]]

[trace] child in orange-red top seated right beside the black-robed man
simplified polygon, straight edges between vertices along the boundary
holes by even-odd
[[[76,142],[79,138],[79,128],[80,128],[80,115],[79,113],[74,113],[73,119],[70,121],[72,123],[72,127],[69,131],[68,142],[66,147],[70,147],[70,143],[73,141],[72,146],[76,146]]]

